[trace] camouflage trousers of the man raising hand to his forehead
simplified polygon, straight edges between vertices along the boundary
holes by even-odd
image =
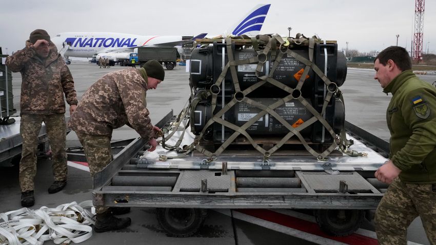
[[[19,162],[19,185],[22,192],[34,190],[38,134],[43,122],[46,125],[52,152],[54,180],[67,180],[67,153],[65,150],[67,126],[64,113],[24,114],[21,116],[19,126],[19,132],[23,138],[22,157]]]

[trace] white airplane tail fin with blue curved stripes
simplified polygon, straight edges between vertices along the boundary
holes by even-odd
[[[236,23],[232,28],[226,31],[226,36],[239,36],[243,34],[255,36],[259,34],[270,6],[270,4],[256,5],[240,20],[240,22]]]

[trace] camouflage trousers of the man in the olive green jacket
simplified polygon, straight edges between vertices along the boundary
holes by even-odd
[[[420,216],[427,238],[436,244],[436,184],[403,183],[396,178],[375,212],[379,244],[406,244],[407,228]]]

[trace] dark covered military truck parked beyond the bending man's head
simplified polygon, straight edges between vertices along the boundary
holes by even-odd
[[[138,47],[138,62],[140,65],[155,59],[159,63],[164,64],[167,70],[172,70],[177,62],[177,49],[169,47]]]

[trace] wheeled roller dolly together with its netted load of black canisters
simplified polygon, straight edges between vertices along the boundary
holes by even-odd
[[[208,209],[311,209],[329,234],[358,229],[386,191],[374,172],[389,147],[345,121],[336,43],[207,42],[191,55],[188,106],[156,124],[155,151],[131,141],[94,176],[94,205],[157,208],[162,227],[182,237]]]

